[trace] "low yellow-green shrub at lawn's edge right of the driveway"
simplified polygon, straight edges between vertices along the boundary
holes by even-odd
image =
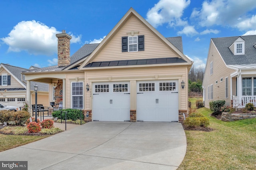
[[[210,120],[207,117],[188,117],[184,121],[187,127],[208,127]]]

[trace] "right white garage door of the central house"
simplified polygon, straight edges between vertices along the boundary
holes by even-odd
[[[178,121],[178,80],[137,82],[137,121]]]

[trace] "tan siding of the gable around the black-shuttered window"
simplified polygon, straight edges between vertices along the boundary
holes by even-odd
[[[131,31],[139,31],[138,35],[144,35],[144,51],[122,52],[121,37],[128,36]],[[114,61],[122,59],[149,59],[162,57],[177,57],[162,41],[160,41],[150,30],[148,30],[135,17],[131,17],[122,29],[114,36],[111,42],[106,45],[98,56],[96,61]]]

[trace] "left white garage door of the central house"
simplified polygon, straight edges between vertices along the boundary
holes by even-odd
[[[130,121],[130,82],[93,84],[94,121]]]

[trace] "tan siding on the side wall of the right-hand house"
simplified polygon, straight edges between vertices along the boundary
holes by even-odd
[[[213,62],[213,74],[210,75],[210,63]],[[204,76],[203,86],[206,90],[204,105],[209,108],[210,101],[225,100],[226,105],[231,105],[230,99],[230,73],[234,72],[233,69],[226,67],[222,57],[218,53],[214,43],[211,41],[208,59],[206,63],[206,70]],[[228,98],[225,97],[225,80],[228,77]],[[220,82],[220,79],[223,81]],[[218,83],[216,84],[216,81]],[[213,85],[213,99],[208,100],[208,86]]]

